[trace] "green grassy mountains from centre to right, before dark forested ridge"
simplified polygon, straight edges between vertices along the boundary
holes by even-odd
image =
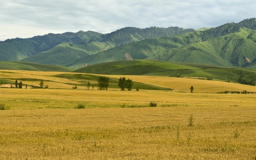
[[[202,42],[202,32],[190,32],[170,38],[152,38],[79,58],[65,65],[79,68],[129,59],[179,61],[223,67],[247,67],[256,60],[256,31],[241,28],[238,32]]]

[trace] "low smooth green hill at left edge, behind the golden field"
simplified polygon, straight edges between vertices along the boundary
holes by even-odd
[[[0,61],[0,70],[40,70],[40,71],[58,71],[71,72],[73,69],[50,64],[38,64],[21,61]]]

